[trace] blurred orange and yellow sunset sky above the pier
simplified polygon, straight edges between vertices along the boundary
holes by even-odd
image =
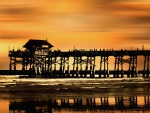
[[[149,0],[0,0],[0,69],[29,39],[62,51],[150,49],[149,31]]]

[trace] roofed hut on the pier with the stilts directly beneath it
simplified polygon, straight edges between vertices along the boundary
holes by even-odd
[[[35,70],[37,75],[46,71],[48,68],[46,57],[53,45],[47,40],[30,39],[23,47],[30,56],[24,59],[24,62],[29,62],[27,65],[30,66],[30,70]]]

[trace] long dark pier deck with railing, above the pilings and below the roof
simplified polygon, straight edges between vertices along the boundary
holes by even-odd
[[[9,51],[9,57],[23,57],[24,55],[34,55],[39,54],[39,51]],[[40,53],[42,55],[42,52]],[[44,52],[43,55],[47,57],[58,57],[58,56],[145,56],[150,55],[150,50],[69,50],[69,51],[60,51],[54,50],[49,52]]]

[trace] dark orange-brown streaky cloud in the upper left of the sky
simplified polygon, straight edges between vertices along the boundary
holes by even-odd
[[[42,10],[35,6],[0,6],[0,22],[36,22],[42,14]]]

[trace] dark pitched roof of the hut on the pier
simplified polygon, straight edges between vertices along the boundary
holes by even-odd
[[[54,47],[49,42],[47,42],[47,40],[35,40],[35,39],[30,39],[23,47],[25,48],[32,48],[33,46],[42,47],[42,45],[48,45],[49,48]]]

